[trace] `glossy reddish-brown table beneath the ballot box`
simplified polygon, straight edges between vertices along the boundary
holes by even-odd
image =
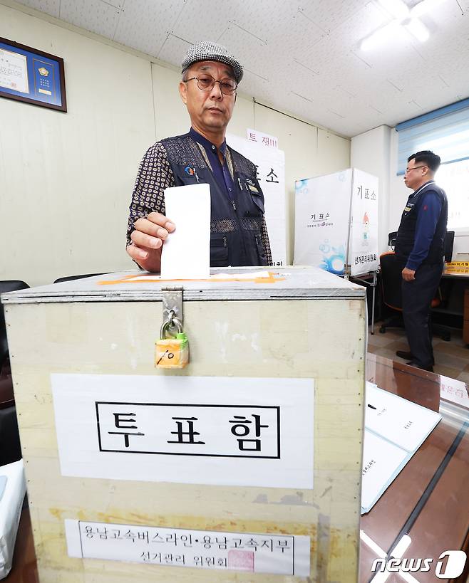
[[[422,502],[420,514],[410,525],[408,535],[411,545],[404,557],[438,558],[445,550],[469,547],[469,431],[461,431],[468,419],[468,385],[463,382],[441,377],[438,374],[413,369],[398,362],[379,357],[367,356],[367,379],[378,387],[440,411],[443,419],[436,429],[415,453],[407,466],[391,486],[361,519],[361,530],[379,547],[388,550],[408,519],[413,509]],[[465,396],[466,395],[466,396]],[[445,399],[441,397],[444,396]],[[460,401],[461,405],[450,400]],[[448,450],[461,436],[447,466],[428,497],[423,500],[426,488],[435,476]],[[371,565],[376,554],[361,542],[360,583],[371,579]],[[469,564],[466,564],[466,574]],[[432,573],[432,572],[431,572]],[[418,582],[438,582],[434,574],[416,574]],[[433,571],[434,573],[434,571]],[[275,577],[272,577],[274,580]],[[462,579],[465,581],[465,579]],[[29,510],[25,508],[21,517],[20,532],[16,544],[14,567],[6,579],[7,583],[38,583],[36,559],[29,522]],[[403,583],[398,575],[390,574],[387,583]]]

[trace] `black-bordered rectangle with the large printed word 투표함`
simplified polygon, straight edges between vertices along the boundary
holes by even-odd
[[[97,402],[96,420],[100,451],[280,457],[278,406]]]

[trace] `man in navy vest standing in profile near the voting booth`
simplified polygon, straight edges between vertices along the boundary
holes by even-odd
[[[413,190],[399,225],[396,258],[402,267],[402,310],[413,365],[433,371],[430,311],[443,273],[448,199],[435,184],[440,157],[424,150],[408,157],[404,182]]]

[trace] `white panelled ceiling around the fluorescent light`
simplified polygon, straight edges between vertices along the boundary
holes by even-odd
[[[244,65],[242,93],[341,135],[469,96],[469,0],[421,16],[425,43],[398,27],[366,53],[361,39],[392,20],[377,0],[20,1],[172,65],[191,43],[218,41]]]

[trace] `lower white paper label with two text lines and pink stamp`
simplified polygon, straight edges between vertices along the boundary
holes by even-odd
[[[309,577],[306,536],[65,522],[70,557]]]

